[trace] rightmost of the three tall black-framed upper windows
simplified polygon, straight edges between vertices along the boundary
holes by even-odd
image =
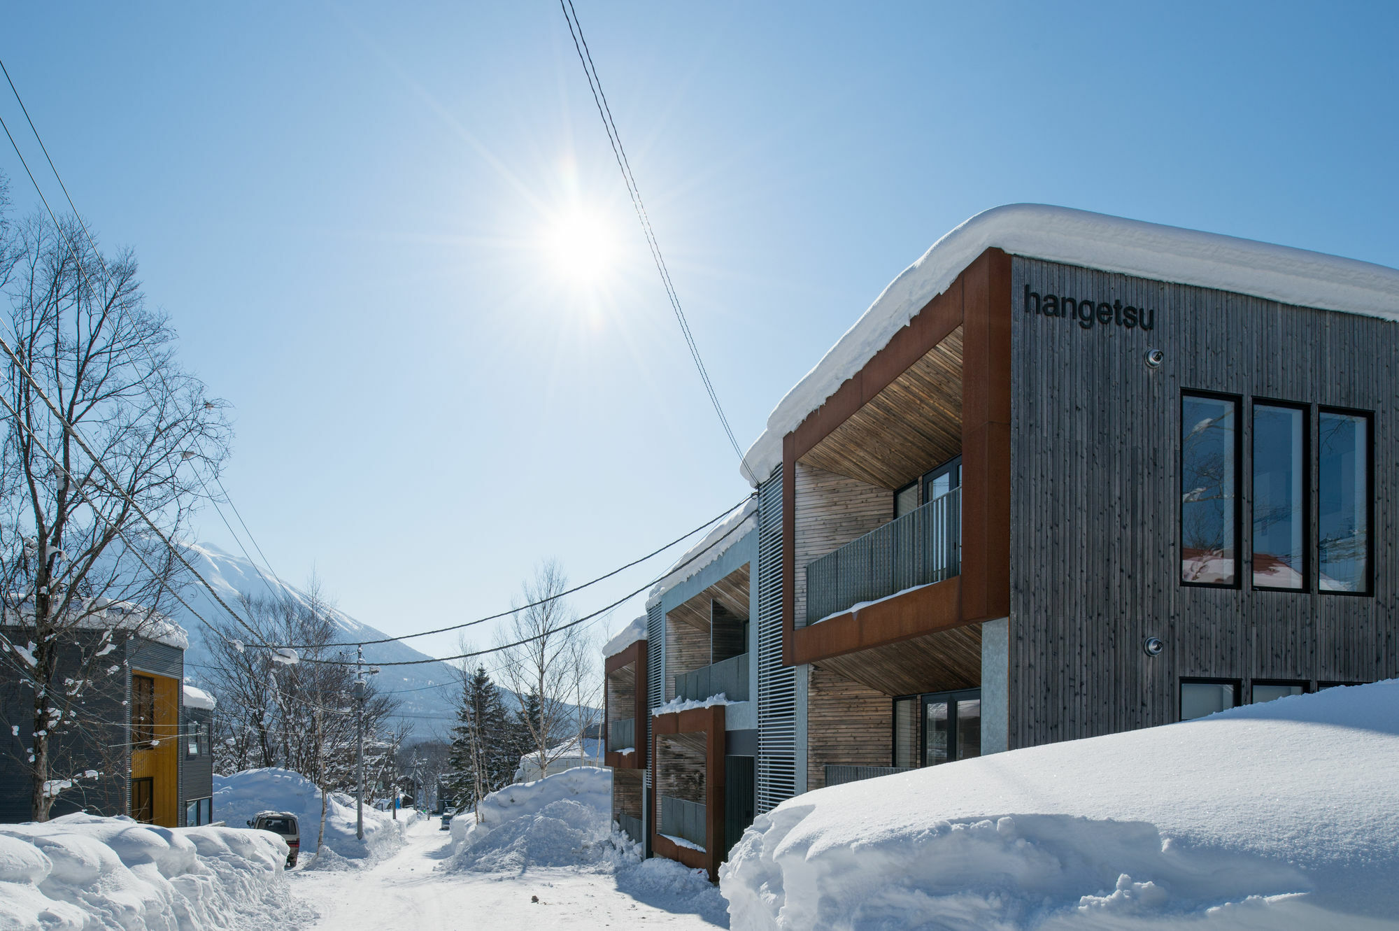
[[[1318,433],[1322,591],[1370,591],[1370,418],[1322,411]]]

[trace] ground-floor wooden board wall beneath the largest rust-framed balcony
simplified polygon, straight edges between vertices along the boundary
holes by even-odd
[[[828,763],[890,765],[894,702],[884,692],[813,665],[806,731],[806,787],[824,788]]]

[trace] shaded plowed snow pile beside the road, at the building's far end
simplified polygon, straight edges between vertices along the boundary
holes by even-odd
[[[641,860],[641,846],[611,823],[611,770],[579,766],[506,786],[452,819],[448,869],[520,874],[547,868],[611,874],[617,888],[669,911],[726,924],[727,904],[701,869]]]

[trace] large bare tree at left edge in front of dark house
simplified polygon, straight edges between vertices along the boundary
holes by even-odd
[[[123,726],[84,714],[94,689],[125,682],[109,674],[108,644],[158,635],[171,600],[178,562],[137,507],[180,534],[229,428],[176,363],[175,333],[147,306],[130,252],[105,259],[76,219],[6,225],[0,291],[14,352],[0,356],[0,649],[31,692],[27,720],[7,721],[8,749],[29,774],[34,819],[46,821],[74,781],[60,738]],[[113,602],[132,608],[120,623]]]

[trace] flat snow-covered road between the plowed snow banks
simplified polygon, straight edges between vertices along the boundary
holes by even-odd
[[[292,893],[320,911],[316,931],[467,931],[471,928],[606,928],[634,925],[706,928],[697,914],[665,910],[617,889],[611,875],[532,868],[525,875],[442,872],[448,833],[438,821],[409,830],[409,844],[371,869],[290,875]],[[530,900],[539,896],[539,902]]]

